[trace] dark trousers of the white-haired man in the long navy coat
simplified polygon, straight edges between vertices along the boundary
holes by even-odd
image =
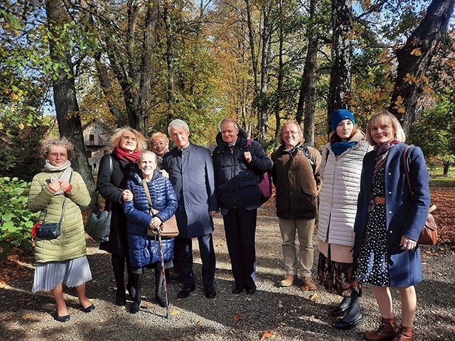
[[[202,281],[204,287],[213,286],[215,278],[215,249],[212,234],[198,237],[200,259],[202,260]],[[186,285],[196,282],[193,274],[193,240],[176,237],[173,244],[174,257],[177,259],[180,278]]]

